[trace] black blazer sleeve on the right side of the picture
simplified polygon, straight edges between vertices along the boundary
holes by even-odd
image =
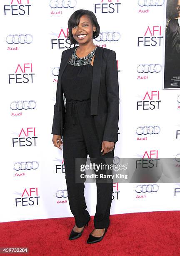
[[[106,87],[108,107],[103,141],[116,142],[119,130],[119,82],[115,51],[111,51],[107,57]]]

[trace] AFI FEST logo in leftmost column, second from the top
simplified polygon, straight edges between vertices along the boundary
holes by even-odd
[[[8,74],[9,84],[28,84],[33,83],[32,63],[18,64],[14,74]]]

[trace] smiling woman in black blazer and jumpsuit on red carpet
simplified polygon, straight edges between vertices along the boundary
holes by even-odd
[[[78,44],[62,52],[60,64],[52,142],[57,148],[63,143],[65,178],[72,214],[75,217],[69,239],[82,235],[90,221],[84,197],[84,183],[75,182],[75,159],[110,159],[113,163],[119,120],[119,85],[115,51],[93,44],[100,26],[89,10],[77,10],[68,20],[71,44]],[[63,93],[66,103],[63,102]],[[63,138],[63,142],[62,142]],[[82,160],[83,161],[83,160]],[[103,172],[103,171],[102,171]],[[102,240],[108,226],[113,183],[97,182],[95,229],[87,243]]]

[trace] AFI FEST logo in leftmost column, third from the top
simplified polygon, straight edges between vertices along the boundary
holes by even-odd
[[[35,127],[28,127],[21,129],[18,138],[13,138],[13,147],[36,146],[37,136],[35,134]]]

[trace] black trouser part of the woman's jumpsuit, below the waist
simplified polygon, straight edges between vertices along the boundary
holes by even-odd
[[[90,219],[90,215],[86,210],[87,205],[84,197],[85,185],[84,183],[75,182],[75,159],[83,158],[83,164],[86,164],[87,154],[89,154],[90,159],[98,158],[103,161],[108,158],[112,159],[113,163],[114,157],[114,149],[112,152],[102,156],[102,142],[100,142],[97,137],[94,119],[93,116],[90,115],[90,100],[83,102],[66,102],[62,141],[65,179],[70,210],[75,217],[77,227],[81,228]],[[93,162],[93,160],[91,162]],[[96,187],[97,205],[94,216],[94,226],[98,229],[107,228],[110,224],[109,215],[112,202],[113,182],[99,183],[96,181]]]

